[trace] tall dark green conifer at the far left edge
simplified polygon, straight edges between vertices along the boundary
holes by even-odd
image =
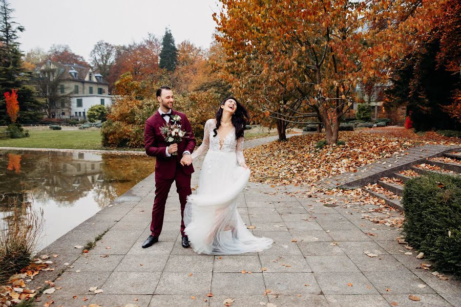
[[[24,27],[13,21],[7,0],[0,0],[0,124],[7,125],[10,119],[6,112],[3,93],[17,90],[19,114],[17,122],[33,123],[41,117],[41,102],[37,99],[32,73],[23,68],[23,53],[17,41],[18,32]]]

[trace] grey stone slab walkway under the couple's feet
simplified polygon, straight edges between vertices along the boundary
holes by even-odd
[[[64,273],[56,280],[61,288],[43,295],[37,305],[53,299],[55,306],[66,307],[224,306],[224,300],[234,299],[234,307],[461,306],[459,280],[442,280],[422,270],[421,263],[429,262],[402,252],[405,248],[395,240],[399,229],[361,218],[361,211],[372,205],[339,201],[338,207],[325,207],[316,198],[288,196],[284,187],[249,183],[238,200],[243,221],[256,226],[253,233],[274,239],[269,250],[211,256],[182,248],[173,189],[160,242],[142,249],[150,234],[153,186],[151,175],[40,253],[58,254],[53,259],[58,269],[40,273],[35,282],[43,286],[43,279],[57,275],[59,268]],[[74,248],[108,227],[89,253]],[[95,294],[90,287],[103,292]]]

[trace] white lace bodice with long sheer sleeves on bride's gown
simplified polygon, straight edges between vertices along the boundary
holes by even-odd
[[[197,150],[192,153],[192,159],[197,158],[203,152],[210,149],[213,151],[221,152],[235,152],[237,156],[237,162],[239,165],[242,165],[242,163],[245,162],[245,158],[243,157],[243,137],[236,140],[235,127],[232,127],[232,129],[224,137],[222,146],[220,148],[219,136],[214,137],[214,128],[216,128],[216,120],[208,119],[205,123],[205,129],[203,132],[203,142],[199,148],[197,148]]]

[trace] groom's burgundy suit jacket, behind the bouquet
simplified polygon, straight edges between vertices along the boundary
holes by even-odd
[[[191,165],[182,166],[179,161],[182,159],[182,153],[188,150],[192,153],[195,148],[195,137],[192,131],[191,123],[184,113],[171,110],[172,116],[179,115],[181,121],[178,124],[186,131],[186,137],[178,143],[178,155],[166,157],[166,147],[169,146],[160,133],[160,127],[164,126],[166,121],[161,117],[160,113],[155,112],[154,115],[145,121],[144,128],[144,147],[145,153],[148,156],[155,157],[155,179],[173,179],[175,178],[176,168],[180,167],[181,171],[187,175],[194,172],[194,167]],[[170,123],[172,119],[170,118]]]

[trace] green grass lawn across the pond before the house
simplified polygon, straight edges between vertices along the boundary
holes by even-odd
[[[101,146],[99,130],[29,131],[23,139],[0,139],[0,147],[106,149]]]

